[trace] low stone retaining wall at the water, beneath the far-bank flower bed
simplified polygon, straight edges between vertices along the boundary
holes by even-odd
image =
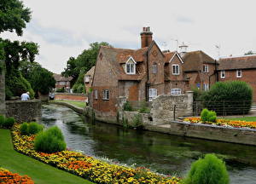
[[[211,124],[191,124],[172,121],[170,124],[146,125],[145,129],[170,135],[225,141],[256,146],[256,129],[230,128]]]

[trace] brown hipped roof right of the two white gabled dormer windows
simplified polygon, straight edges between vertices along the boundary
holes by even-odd
[[[188,52],[183,56],[183,71],[200,71],[202,64],[215,64],[215,60],[201,50]]]

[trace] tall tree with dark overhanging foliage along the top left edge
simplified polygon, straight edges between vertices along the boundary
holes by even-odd
[[[31,20],[31,10],[26,8],[20,0],[0,1],[0,34],[2,32],[16,32],[21,36],[26,23]],[[10,42],[0,39],[0,113],[5,113],[5,65],[10,71],[17,67],[20,59],[33,60],[38,54],[38,45],[35,43]],[[28,57],[27,57],[28,56]],[[8,71],[7,71],[8,72]]]

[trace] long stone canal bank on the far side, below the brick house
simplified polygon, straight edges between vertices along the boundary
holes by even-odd
[[[124,111],[120,111],[114,121],[113,119],[109,120],[106,117],[102,117],[98,113],[95,114],[95,112],[88,106],[83,109],[68,104],[67,102],[52,101],[51,103],[68,106],[75,112],[108,124],[119,124],[121,126],[131,127],[134,127],[135,124],[137,124],[139,126],[141,125],[143,129],[170,135],[256,146],[256,129],[232,128],[211,124],[191,124],[189,122],[171,120],[160,123],[160,119],[154,121],[149,113]]]

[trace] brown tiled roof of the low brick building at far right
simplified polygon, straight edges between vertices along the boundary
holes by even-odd
[[[221,58],[218,63],[218,70],[256,68],[256,55]]]

